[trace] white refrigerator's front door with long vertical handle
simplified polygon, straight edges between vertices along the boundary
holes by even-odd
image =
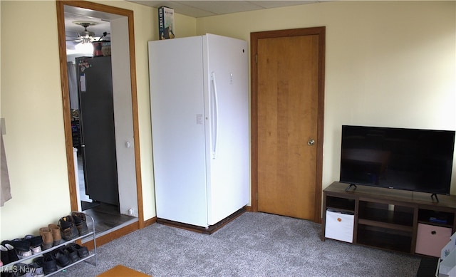
[[[204,36],[208,223],[249,203],[247,42]]]

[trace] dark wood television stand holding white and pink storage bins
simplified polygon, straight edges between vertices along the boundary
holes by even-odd
[[[347,192],[346,183],[333,182],[323,190],[321,240],[440,257],[456,231],[456,195],[435,197],[362,185]]]

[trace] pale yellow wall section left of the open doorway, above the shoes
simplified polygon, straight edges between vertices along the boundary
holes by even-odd
[[[36,234],[64,216],[70,211],[70,196],[56,4],[0,4],[1,117],[6,119],[4,144],[13,196],[0,208],[3,240]]]

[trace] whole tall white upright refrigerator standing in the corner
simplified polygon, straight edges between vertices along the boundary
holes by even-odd
[[[208,227],[249,203],[247,42],[149,42],[157,219]]]

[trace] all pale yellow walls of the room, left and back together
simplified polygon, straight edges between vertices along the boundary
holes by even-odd
[[[147,41],[157,10],[134,11],[142,195],[155,216]],[[13,199],[0,208],[0,241],[70,211],[54,1],[0,1],[1,117]],[[456,129],[455,2],[328,2],[193,19],[175,15],[177,37],[326,26],[323,187],[338,178],[340,125]],[[43,32],[46,39],[43,39]],[[453,174],[452,194],[456,194]]]

